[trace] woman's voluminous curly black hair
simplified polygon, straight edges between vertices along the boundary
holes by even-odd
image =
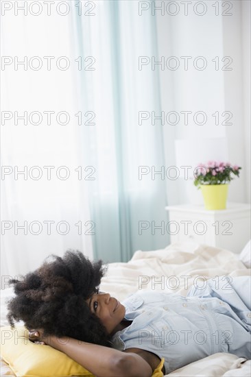
[[[28,329],[43,328],[45,335],[67,336],[110,347],[110,336],[86,300],[97,292],[105,268],[81,252],[52,255],[34,272],[12,279],[16,294],[8,302],[12,328],[22,320]]]

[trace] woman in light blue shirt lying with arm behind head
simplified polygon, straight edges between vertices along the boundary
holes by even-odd
[[[139,291],[121,304],[98,291],[103,275],[80,252],[53,256],[10,281],[10,324],[23,320],[30,340],[102,377],[152,376],[162,358],[167,374],[216,352],[250,357],[250,278],[207,280],[187,297]]]

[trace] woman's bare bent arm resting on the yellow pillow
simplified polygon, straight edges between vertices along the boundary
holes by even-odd
[[[152,376],[150,364],[134,352],[121,352],[69,337],[57,338],[52,335],[41,340],[64,352],[97,377]]]

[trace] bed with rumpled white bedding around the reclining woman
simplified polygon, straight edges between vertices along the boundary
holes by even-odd
[[[110,263],[100,289],[120,301],[143,289],[187,295],[194,282],[218,276],[250,275],[246,260],[241,261],[238,254],[208,245],[175,243],[163,250],[137,251],[128,263]],[[7,324],[5,301],[11,295],[10,289],[1,295],[1,326]],[[225,353],[213,354],[168,374],[171,377],[250,375],[250,360]],[[2,358],[1,376],[16,376]]]

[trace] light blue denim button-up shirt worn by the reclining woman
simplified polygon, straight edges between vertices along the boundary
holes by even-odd
[[[208,280],[204,289],[192,287],[187,297],[134,293],[122,302],[132,324],[114,335],[114,348],[141,348],[164,357],[166,374],[216,352],[250,358],[251,279],[216,285]]]

